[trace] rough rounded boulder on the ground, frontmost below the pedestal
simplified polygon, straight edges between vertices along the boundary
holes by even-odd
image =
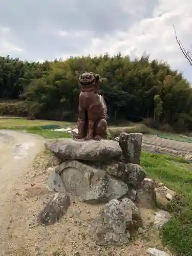
[[[133,230],[142,227],[140,212],[130,199],[111,200],[92,221],[89,233],[100,245],[130,242]]]

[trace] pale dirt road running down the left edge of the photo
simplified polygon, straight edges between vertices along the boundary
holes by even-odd
[[[7,242],[9,223],[18,216],[14,197],[27,181],[37,153],[44,150],[44,139],[28,133],[0,130],[0,254]],[[14,216],[13,216],[14,215]]]

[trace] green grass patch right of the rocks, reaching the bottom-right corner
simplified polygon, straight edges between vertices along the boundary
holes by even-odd
[[[176,191],[177,200],[167,207],[173,218],[161,230],[163,241],[177,255],[192,255],[192,168],[181,158],[142,153],[141,165],[147,175]]]

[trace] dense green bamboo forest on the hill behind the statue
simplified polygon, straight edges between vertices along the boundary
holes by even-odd
[[[182,73],[149,56],[131,60],[121,53],[45,62],[0,57],[0,114],[76,121],[78,76],[84,71],[102,78],[109,122],[192,130],[192,88]]]

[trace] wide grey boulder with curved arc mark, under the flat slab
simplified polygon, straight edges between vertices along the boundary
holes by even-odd
[[[63,189],[89,203],[118,199],[128,191],[127,185],[116,180],[102,169],[94,168],[79,161],[65,161],[49,181],[54,190]],[[59,186],[58,186],[58,184]]]

